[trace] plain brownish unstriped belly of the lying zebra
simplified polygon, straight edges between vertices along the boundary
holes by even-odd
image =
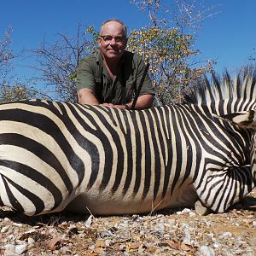
[[[89,213],[98,215],[133,214],[153,212],[169,207],[193,207],[198,197],[193,186],[182,186],[174,191],[172,196],[160,195],[152,198],[125,197],[125,195],[111,195],[109,191],[89,191],[78,195],[71,201],[66,210],[70,212]]]

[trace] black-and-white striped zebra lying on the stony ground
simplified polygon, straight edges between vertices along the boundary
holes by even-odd
[[[225,212],[256,182],[255,73],[212,75],[145,110],[46,100],[0,106],[0,205],[118,215],[196,201]]]

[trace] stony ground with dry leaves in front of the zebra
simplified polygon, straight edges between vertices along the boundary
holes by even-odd
[[[2,207],[0,255],[256,255],[256,189],[229,212],[27,218]]]

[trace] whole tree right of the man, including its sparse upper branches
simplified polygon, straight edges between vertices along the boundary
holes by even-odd
[[[217,13],[212,13],[213,7],[198,10],[195,1],[171,1],[176,5],[172,12],[160,0],[131,2],[148,11],[149,26],[131,31],[128,49],[150,63],[156,105],[182,102],[182,92],[212,70],[213,61],[193,61],[200,54],[193,47],[201,22]]]

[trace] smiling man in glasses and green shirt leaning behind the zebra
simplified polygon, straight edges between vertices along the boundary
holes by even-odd
[[[120,20],[102,24],[99,49],[79,63],[79,103],[130,109],[143,77],[145,63],[139,55],[125,50],[127,30]],[[154,89],[146,75],[135,109],[150,108]]]

